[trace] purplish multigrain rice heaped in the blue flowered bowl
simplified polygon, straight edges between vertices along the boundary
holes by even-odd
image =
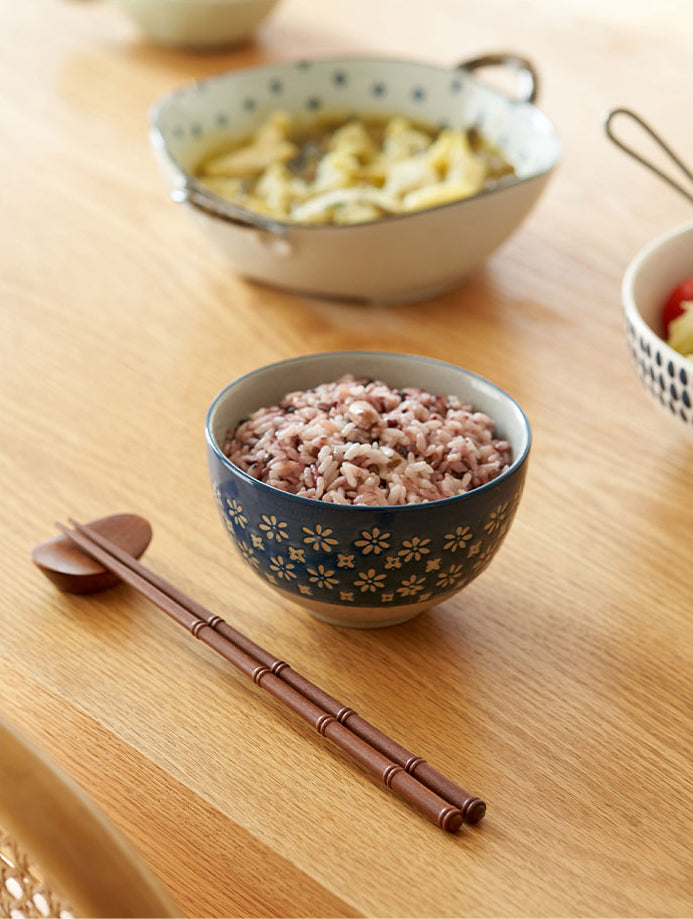
[[[282,491],[365,505],[463,494],[512,462],[494,422],[454,396],[351,375],[258,409],[228,432],[224,453]]]

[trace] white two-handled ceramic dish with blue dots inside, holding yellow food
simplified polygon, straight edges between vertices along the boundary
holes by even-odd
[[[196,0],[197,2],[197,0]],[[558,163],[556,132],[531,101],[513,100],[458,69],[387,59],[327,59],[225,73],[159,100],[151,139],[173,186],[239,274],[339,299],[421,300],[456,285],[527,216]],[[529,79],[527,79],[529,77]],[[514,166],[517,180],[473,198],[356,226],[306,226],[258,218],[204,189],[193,171],[220,143],[252,134],[277,109],[292,115],[402,114],[431,125],[476,126]]]

